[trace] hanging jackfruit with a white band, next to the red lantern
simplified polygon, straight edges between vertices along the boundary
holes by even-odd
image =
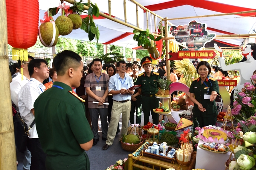
[[[45,22],[38,28],[38,36],[44,46],[53,47],[58,42],[58,27],[52,22]]]

